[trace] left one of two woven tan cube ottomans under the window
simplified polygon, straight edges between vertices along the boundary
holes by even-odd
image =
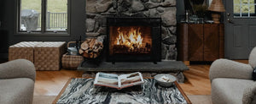
[[[34,62],[34,47],[42,42],[40,41],[22,41],[9,47],[9,61],[25,58]]]

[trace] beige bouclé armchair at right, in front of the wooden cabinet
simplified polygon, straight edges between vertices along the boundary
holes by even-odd
[[[249,64],[218,59],[210,67],[213,104],[256,104],[256,47],[249,56]]]

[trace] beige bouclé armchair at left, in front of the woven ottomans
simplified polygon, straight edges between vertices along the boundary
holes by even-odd
[[[28,60],[0,64],[0,104],[32,104],[35,77],[35,67]]]

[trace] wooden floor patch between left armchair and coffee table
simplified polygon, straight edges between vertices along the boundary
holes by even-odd
[[[67,80],[81,77],[82,71],[61,69],[61,71],[37,71],[34,96],[57,96]]]

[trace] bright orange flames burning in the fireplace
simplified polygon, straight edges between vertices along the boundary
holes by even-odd
[[[143,38],[140,28],[131,28],[129,31],[121,31],[119,27],[117,30],[119,34],[116,38],[117,45],[129,47],[131,50],[139,49],[143,46]]]

